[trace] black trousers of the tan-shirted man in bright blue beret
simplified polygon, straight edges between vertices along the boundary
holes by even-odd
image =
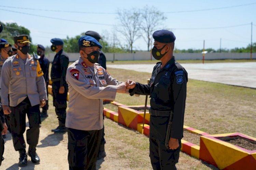
[[[68,128],[68,162],[70,170],[96,170],[102,129],[81,131]]]

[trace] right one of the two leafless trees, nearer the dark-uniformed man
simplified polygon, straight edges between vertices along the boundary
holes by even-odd
[[[162,21],[166,17],[160,11],[157,11],[155,7],[145,6],[141,10],[141,24],[142,37],[147,43],[147,51],[150,51],[152,43],[152,34],[156,29],[164,27]]]

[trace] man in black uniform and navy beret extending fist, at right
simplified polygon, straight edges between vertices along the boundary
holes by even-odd
[[[154,170],[174,170],[179,160],[185,113],[187,72],[173,56],[171,31],[153,33],[152,55],[160,60],[149,84],[127,80],[130,95],[150,95],[150,159]]]

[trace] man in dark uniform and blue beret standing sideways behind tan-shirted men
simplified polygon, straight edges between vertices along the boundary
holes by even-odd
[[[52,132],[66,132],[66,108],[67,108],[67,95],[68,84],[66,82],[66,74],[69,65],[69,57],[63,51],[63,40],[60,38],[51,39],[51,50],[56,52],[54,56],[51,80],[53,82],[53,105],[55,106],[55,112],[58,116],[59,126],[56,129],[52,129]]]

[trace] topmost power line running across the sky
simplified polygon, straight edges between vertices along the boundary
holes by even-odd
[[[199,9],[199,10],[187,10],[187,11],[171,11],[171,12],[163,12],[163,13],[169,14],[169,13],[212,11],[212,10],[221,10],[221,9],[234,8],[234,7],[247,6],[247,5],[254,5],[254,4],[256,4],[256,2],[248,3],[248,4],[241,4],[241,5],[234,5],[234,6],[225,6],[225,7],[217,7],[217,8]],[[80,14],[118,14],[116,12],[114,12],[114,13],[109,12],[108,13],[108,12],[61,11],[61,10],[47,10],[47,9],[38,9],[38,8],[4,6],[4,5],[0,5],[0,7],[16,8],[16,9],[24,9],[24,10],[36,10],[36,11],[49,11],[49,12],[80,13]]]

